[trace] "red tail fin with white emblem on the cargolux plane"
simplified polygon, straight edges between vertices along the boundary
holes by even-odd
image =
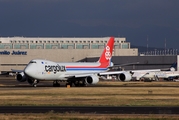
[[[110,62],[110,59],[112,57],[113,47],[114,47],[114,37],[110,37],[106,47],[103,50],[101,57],[99,58],[100,63]]]

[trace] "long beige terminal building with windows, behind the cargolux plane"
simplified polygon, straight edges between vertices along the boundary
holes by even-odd
[[[24,69],[32,59],[75,62],[99,57],[109,37],[0,37],[0,71]],[[113,56],[138,56],[126,38],[115,37]]]

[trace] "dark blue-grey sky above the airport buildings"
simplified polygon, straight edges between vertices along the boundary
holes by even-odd
[[[179,0],[0,0],[0,36],[114,36],[179,49]]]

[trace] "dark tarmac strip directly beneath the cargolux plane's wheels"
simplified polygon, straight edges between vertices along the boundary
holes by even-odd
[[[106,82],[108,82],[106,84]],[[0,76],[0,88],[29,88],[32,85],[28,84],[27,81],[19,82],[15,79],[15,77],[6,77]],[[40,81],[37,84],[37,87],[53,87],[53,81]],[[65,82],[60,83],[60,87],[66,87]],[[73,86],[75,87],[75,86]],[[171,82],[171,81],[164,81],[164,82],[143,82],[143,81],[132,81],[132,82],[121,82],[121,81],[100,81],[95,85],[87,85],[85,87],[179,87],[179,82]]]

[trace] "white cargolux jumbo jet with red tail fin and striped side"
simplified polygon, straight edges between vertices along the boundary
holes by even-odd
[[[34,59],[24,70],[18,72],[16,79],[19,82],[27,81],[34,87],[40,81],[53,81],[53,86],[60,86],[60,81],[67,85],[85,86],[96,84],[99,81],[98,73],[107,71],[111,67],[111,57],[114,47],[114,37],[110,37],[101,57],[97,62],[59,63],[43,59]]]

